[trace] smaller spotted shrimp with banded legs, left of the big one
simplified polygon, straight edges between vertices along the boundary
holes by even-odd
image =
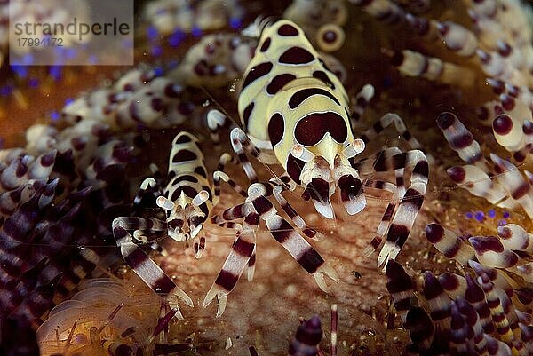
[[[166,221],[157,218],[121,217],[113,221],[113,233],[123,258],[135,273],[155,292],[170,297],[179,297],[187,305],[193,301],[147,256],[136,241],[148,242],[153,236],[170,236],[175,241],[195,239],[195,255],[201,257],[205,238],[201,233],[203,223],[210,216],[218,196],[213,197],[211,183],[203,162],[203,154],[197,145],[198,139],[182,131],[172,141],[169,158],[168,184],[162,192],[154,178],[146,178],[134,203],[148,192],[156,196],[157,205],[166,211]],[[128,231],[133,231],[133,235]],[[153,241],[153,240],[152,240]],[[177,307],[169,300],[171,307]],[[181,314],[177,313],[181,318]]]

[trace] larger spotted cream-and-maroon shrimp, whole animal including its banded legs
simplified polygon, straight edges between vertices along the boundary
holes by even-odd
[[[371,85],[366,85],[360,96],[368,102],[372,92]],[[255,232],[259,218],[266,221],[274,239],[314,275],[321,289],[326,287],[324,275],[337,280],[335,271],[267,199],[274,195],[294,225],[313,238],[316,232],[282,197],[282,191],[288,188],[301,186],[304,189],[302,197],[312,200],[316,211],[325,218],[334,218],[330,197],[338,188],[346,212],[354,215],[366,206],[360,170],[370,174],[394,170],[396,185],[384,181],[367,181],[365,185],[394,194],[378,227],[378,236],[370,246],[378,249],[388,231],[378,264],[382,265],[399,253],[426,192],[426,156],[419,150],[402,153],[399,148],[391,147],[370,159],[355,160],[355,156],[364,150],[365,143],[391,123],[411,146],[418,146],[418,141],[412,138],[402,119],[394,114],[384,115],[361,138],[354,138],[348,102],[342,83],[323,65],[301,28],[289,20],[280,20],[263,30],[255,56],[243,76],[239,95],[238,109],[244,130],[235,128],[230,134],[235,154],[251,186],[248,194],[243,194],[242,188],[238,190],[247,197],[243,204],[211,218],[219,225],[244,218],[243,231],[237,234],[230,255],[205,297],[204,306],[217,296],[220,314],[226,305],[227,294],[235,287],[246,265],[255,262]],[[213,132],[230,125],[216,110],[208,114],[208,123]],[[286,174],[259,182],[246,153],[263,163],[281,164]],[[412,171],[406,191],[403,181],[407,167]],[[219,177],[235,186],[227,176],[219,174]]]

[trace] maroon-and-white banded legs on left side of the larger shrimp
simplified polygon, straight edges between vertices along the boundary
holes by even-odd
[[[332,280],[338,281],[337,273],[330,265],[324,262],[320,254],[306,241],[302,234],[298,233],[289,221],[282,218],[277,208],[268,199],[274,196],[275,201],[282,207],[282,210],[285,211],[301,233],[308,238],[320,239],[322,234],[306,225],[304,219],[282,196],[282,192],[291,189],[294,183],[285,175],[272,178],[269,181],[259,182],[257,173],[244,152],[246,150],[252,156],[258,157],[259,149],[253,146],[246,134],[238,128],[231,131],[230,137],[237,159],[243,166],[251,185],[244,191],[226,173],[222,171],[215,172],[215,182],[220,178],[227,181],[229,186],[234,187],[237,193],[245,197],[245,201],[221,211],[211,218],[211,222],[223,225],[243,218],[244,223],[242,232],[237,233],[232,250],[203,301],[203,306],[210,305],[213,298],[218,297],[217,317],[224,312],[227,304],[227,295],[235,288],[244,269],[249,265],[249,261],[255,262],[253,258],[255,258],[259,218],[265,220],[267,229],[274,237],[274,240],[278,241],[284,249],[287,249],[290,255],[308,273],[313,274],[319,288],[325,291],[327,284],[324,276],[327,275]],[[215,183],[215,185],[217,184]],[[250,277],[249,274],[249,279]]]

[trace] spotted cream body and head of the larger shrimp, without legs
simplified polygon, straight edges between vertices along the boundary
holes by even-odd
[[[243,78],[242,123],[255,146],[274,151],[273,160],[267,153],[260,158],[280,162],[325,218],[334,215],[330,182],[341,188],[348,213],[365,204],[362,182],[348,162],[362,152],[364,142],[350,130],[347,107],[342,83],[322,66],[301,29],[282,20],[264,31]]]

